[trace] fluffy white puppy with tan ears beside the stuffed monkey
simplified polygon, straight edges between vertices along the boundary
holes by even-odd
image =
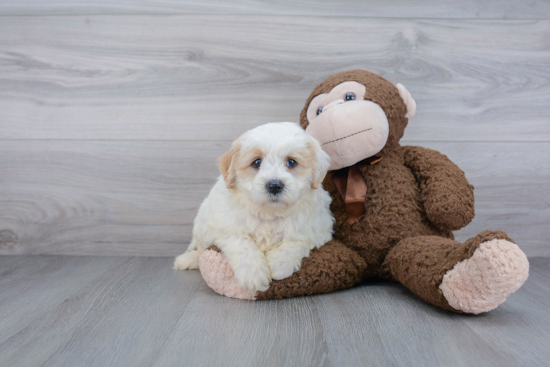
[[[195,218],[193,239],[175,269],[198,269],[216,245],[239,287],[265,291],[300,269],[332,239],[330,196],[321,187],[330,157],[295,123],[258,126],[219,159],[222,175]]]

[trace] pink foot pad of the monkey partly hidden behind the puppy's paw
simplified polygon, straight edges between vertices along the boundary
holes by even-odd
[[[222,296],[253,300],[252,292],[237,286],[233,269],[221,253],[205,250],[199,258],[199,269],[206,284]]]

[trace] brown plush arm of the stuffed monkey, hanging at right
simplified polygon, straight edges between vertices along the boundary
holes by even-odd
[[[406,146],[405,165],[420,185],[428,219],[441,229],[458,230],[474,218],[474,187],[447,156],[431,149]]]

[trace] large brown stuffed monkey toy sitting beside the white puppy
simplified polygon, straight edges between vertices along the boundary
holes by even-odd
[[[265,292],[239,289],[223,254],[199,260],[208,285],[243,299],[327,293],[369,280],[398,281],[445,310],[490,311],[525,282],[529,263],[502,231],[454,240],[474,217],[473,186],[445,155],[401,146],[416,103],[407,89],[351,70],[311,93],[301,126],[332,159],[323,187],[332,197],[333,240],[311,251],[300,270]]]

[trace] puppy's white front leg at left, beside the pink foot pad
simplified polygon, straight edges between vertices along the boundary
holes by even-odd
[[[251,292],[263,292],[269,288],[271,274],[267,261],[252,240],[230,237],[220,241],[218,247],[233,269],[240,288]]]

